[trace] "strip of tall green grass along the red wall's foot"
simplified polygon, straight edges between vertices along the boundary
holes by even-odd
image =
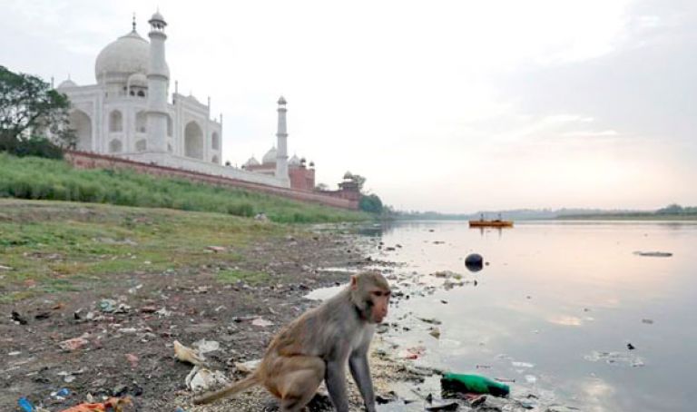
[[[264,212],[280,223],[366,221],[346,211],[280,196],[154,177],[125,170],[79,170],[64,161],[0,153],[0,198],[81,201],[123,206],[211,211],[250,218]]]

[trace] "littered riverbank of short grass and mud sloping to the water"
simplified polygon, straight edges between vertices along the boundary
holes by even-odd
[[[219,342],[211,368],[239,377],[235,363],[260,358],[317,304],[303,299],[310,289],[348,279],[323,268],[375,263],[340,231],[64,202],[3,201],[0,248],[3,410],[19,397],[63,410],[88,394],[129,395],[138,410],[217,410],[187,404],[191,366],[172,357],[174,340]],[[62,388],[70,395],[52,397]],[[270,401],[243,399],[218,407]]]

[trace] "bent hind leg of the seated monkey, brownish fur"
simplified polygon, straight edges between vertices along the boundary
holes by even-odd
[[[324,361],[316,357],[290,357],[276,360],[279,374],[272,385],[280,393],[280,410],[298,412],[317,393],[324,379]]]

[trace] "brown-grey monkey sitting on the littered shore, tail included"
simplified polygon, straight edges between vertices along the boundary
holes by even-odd
[[[375,412],[368,348],[376,325],[388,315],[390,296],[388,281],[379,272],[351,276],[350,284],[337,295],[281,329],[249,377],[193,403],[209,403],[262,385],[280,399],[282,412],[298,412],[324,380],[332,405],[338,412],[348,412],[348,364],[366,410]]]

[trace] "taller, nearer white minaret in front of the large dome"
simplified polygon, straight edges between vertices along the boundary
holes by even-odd
[[[164,27],[158,10],[150,18],[150,66],[148,67],[148,152],[167,152],[167,89],[170,71],[164,59]]]

